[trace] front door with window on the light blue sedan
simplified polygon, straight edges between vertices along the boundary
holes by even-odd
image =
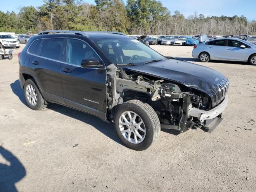
[[[240,46],[244,45],[246,48],[241,48]],[[238,40],[228,40],[227,47],[227,56],[228,60],[238,60],[238,61],[246,61],[248,55],[248,45],[238,41]]]

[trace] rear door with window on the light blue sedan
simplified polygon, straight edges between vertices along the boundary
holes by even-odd
[[[211,59],[226,59],[227,40],[212,41],[212,45],[208,45],[208,51]]]

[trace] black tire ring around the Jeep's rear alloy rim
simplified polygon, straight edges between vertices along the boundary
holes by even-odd
[[[37,94],[37,104],[36,105],[31,105],[26,97],[26,87],[28,84],[31,84],[36,89],[36,94]],[[26,99],[28,106],[33,110],[40,110],[42,103],[44,103],[44,98],[42,97],[41,92],[38,90],[38,87],[36,86],[34,80],[32,80],[32,79],[26,80],[23,90],[24,90],[24,97]]]

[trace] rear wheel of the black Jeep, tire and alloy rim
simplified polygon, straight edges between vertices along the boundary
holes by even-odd
[[[47,106],[36,83],[32,79],[26,80],[24,84],[24,97],[28,106],[33,110],[41,110]]]

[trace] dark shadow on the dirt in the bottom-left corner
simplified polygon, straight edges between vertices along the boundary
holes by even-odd
[[[10,164],[0,163],[0,191],[18,192],[15,183],[26,176],[26,170],[18,158],[2,146],[0,146],[0,154]]]

